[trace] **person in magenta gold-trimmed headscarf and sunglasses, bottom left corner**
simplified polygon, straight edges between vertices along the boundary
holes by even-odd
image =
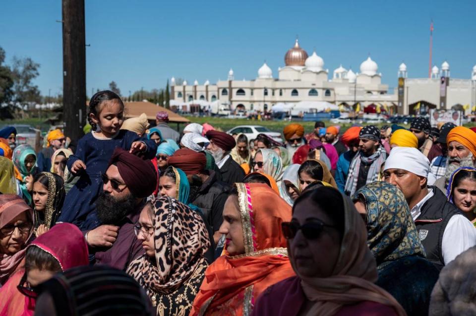
[[[39,284],[55,273],[87,265],[88,247],[73,224],[60,223],[26,249],[25,266],[0,289],[0,315],[33,315]]]

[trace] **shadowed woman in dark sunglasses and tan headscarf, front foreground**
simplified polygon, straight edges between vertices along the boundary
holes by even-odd
[[[375,259],[352,201],[334,188],[306,190],[282,224],[297,276],[269,287],[252,315],[405,315],[374,284]]]

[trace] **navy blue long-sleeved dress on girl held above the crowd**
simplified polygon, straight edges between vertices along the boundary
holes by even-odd
[[[77,174],[80,178],[66,195],[58,221],[73,223],[83,231],[101,225],[96,212],[96,199],[103,191],[101,173],[108,169],[109,159],[116,147],[129,150],[135,141],[147,145],[145,158],[155,157],[155,141],[140,138],[128,130],[120,130],[111,139],[97,139],[92,133],[88,133],[78,141],[76,153],[69,157],[67,167],[71,170],[73,163],[80,159],[86,164],[86,170],[80,170]]]

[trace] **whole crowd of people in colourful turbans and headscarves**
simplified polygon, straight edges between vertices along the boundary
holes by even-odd
[[[0,130],[0,316],[476,313],[476,130],[88,121]]]

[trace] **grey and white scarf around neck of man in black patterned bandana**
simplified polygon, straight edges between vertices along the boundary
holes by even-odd
[[[362,155],[362,152],[358,152],[354,159],[352,159],[351,165],[349,166],[349,175],[347,176],[345,188],[346,195],[354,196],[357,191],[358,170],[360,169],[360,162],[367,165],[370,164],[370,168],[368,169],[367,173],[367,181],[365,182],[365,184],[367,184],[378,180],[380,166],[385,162],[386,158],[387,153],[382,146],[379,146],[377,151],[369,157],[365,157]]]

